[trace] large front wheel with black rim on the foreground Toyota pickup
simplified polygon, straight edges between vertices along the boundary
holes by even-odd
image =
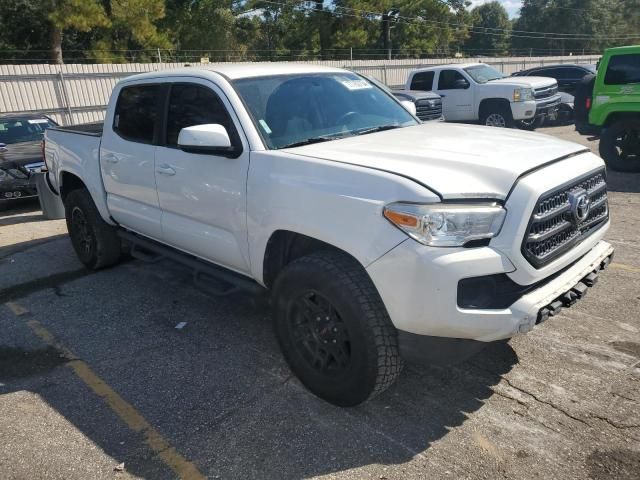
[[[340,252],[290,263],[274,286],[275,331],[291,370],[314,394],[358,405],[402,371],[397,330],[364,268]]]

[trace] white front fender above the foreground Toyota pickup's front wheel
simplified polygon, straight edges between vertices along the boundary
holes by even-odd
[[[383,207],[396,201],[439,198],[388,172],[282,151],[252,152],[247,230],[253,277],[264,284],[264,255],[277,230],[321,240],[367,267],[407,238],[382,216]]]

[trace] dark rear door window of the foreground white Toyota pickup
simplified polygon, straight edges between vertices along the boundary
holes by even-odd
[[[114,132],[133,142],[153,143],[159,96],[159,85],[123,88],[116,104]]]

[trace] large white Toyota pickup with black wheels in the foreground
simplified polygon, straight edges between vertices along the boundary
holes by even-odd
[[[341,69],[132,76],[104,125],[49,129],[44,153],[88,268],[129,249],[216,293],[270,291],[291,369],[338,405],[383,391],[405,358],[461,360],[528,332],[613,254],[587,149],[421,124]]]

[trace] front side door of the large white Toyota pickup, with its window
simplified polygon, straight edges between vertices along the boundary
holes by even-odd
[[[185,127],[220,124],[236,158],[187,153],[178,148]],[[246,182],[249,149],[224,94],[211,82],[171,85],[164,138],[156,151],[155,178],[162,209],[163,241],[180,250],[248,273]]]

